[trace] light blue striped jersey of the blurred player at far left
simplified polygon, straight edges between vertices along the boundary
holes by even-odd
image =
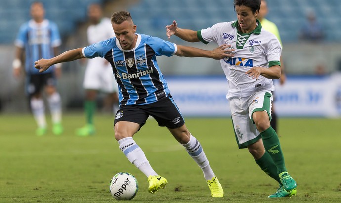
[[[30,20],[24,23],[18,32],[15,46],[25,48],[25,70],[27,74],[45,74],[52,72],[52,68],[39,73],[34,62],[41,58],[53,58],[54,47],[61,44],[58,27],[55,23],[44,20],[36,23]]]

